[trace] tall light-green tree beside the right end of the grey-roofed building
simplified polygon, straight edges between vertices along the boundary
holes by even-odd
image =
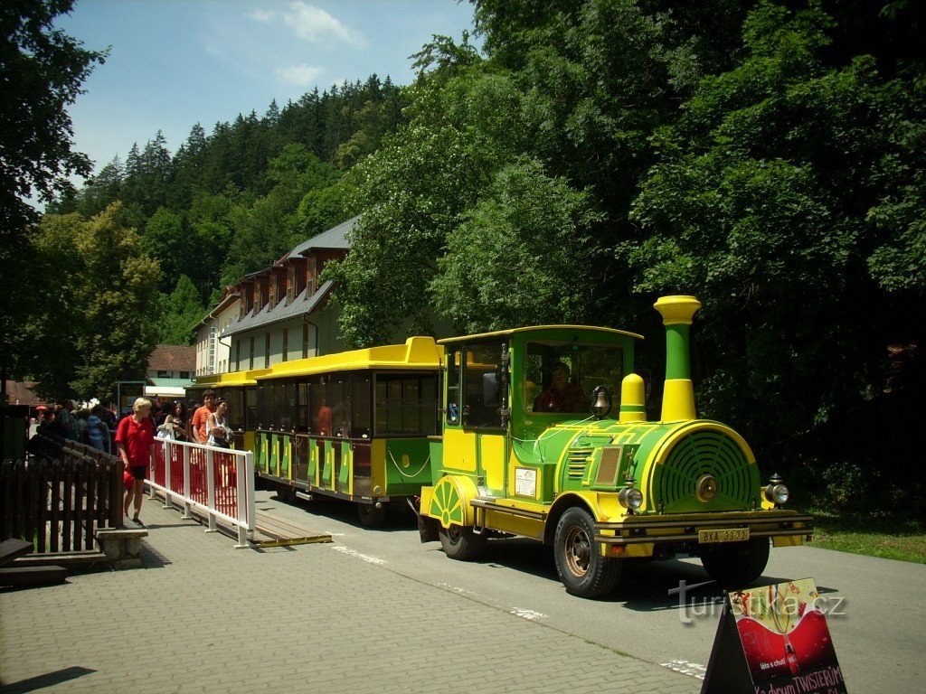
[[[505,77],[451,78],[415,96],[409,124],[348,177],[351,208],[363,216],[351,253],[325,272],[339,283],[349,343],[432,329],[428,287],[437,259],[461,215],[525,140],[519,94]]]

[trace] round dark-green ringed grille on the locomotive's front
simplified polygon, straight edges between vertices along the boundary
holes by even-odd
[[[698,487],[706,476],[716,480],[709,498]],[[734,440],[701,430],[680,440],[666,462],[656,466],[650,489],[652,501],[665,513],[745,511],[752,508],[760,484],[757,465],[749,464]]]

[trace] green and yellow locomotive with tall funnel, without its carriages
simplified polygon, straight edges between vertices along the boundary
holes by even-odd
[[[432,438],[433,481],[421,490],[422,541],[469,559],[493,536],[539,539],[554,546],[566,589],[595,597],[626,559],[696,555],[713,578],[743,585],[770,544],[810,539],[812,519],[782,508],[788,490],[777,476],[763,484],[748,443],[695,415],[689,330],[700,305],[657,301],[659,421],[646,421],[632,373],[639,335],[541,326],[441,341],[443,437]]]

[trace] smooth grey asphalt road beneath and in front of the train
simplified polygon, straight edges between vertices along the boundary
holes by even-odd
[[[536,623],[587,639],[650,663],[697,673],[707,664],[720,590],[695,589],[680,606],[677,589],[707,580],[697,560],[632,566],[605,601],[569,596],[557,579],[553,553],[525,539],[493,540],[478,563],[447,559],[440,544],[420,544],[413,522],[394,521],[382,530],[359,527],[347,504],[331,501],[288,504],[260,492],[271,513],[331,532],[351,551],[421,583],[455,592]],[[306,520],[306,519],[310,520]],[[815,547],[773,550],[764,582],[816,579],[832,611],[828,621],[846,686],[857,692],[920,691],[926,664],[926,565],[875,559]]]

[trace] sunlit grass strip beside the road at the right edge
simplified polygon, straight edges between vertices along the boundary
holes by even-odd
[[[921,520],[809,513],[815,520],[812,547],[926,564],[926,523]]]

